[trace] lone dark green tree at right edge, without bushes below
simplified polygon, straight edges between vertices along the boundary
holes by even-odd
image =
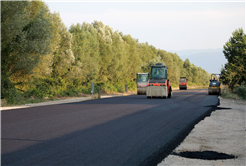
[[[246,81],[246,35],[236,29],[225,43],[223,53],[228,63],[221,70],[222,82],[233,90]]]

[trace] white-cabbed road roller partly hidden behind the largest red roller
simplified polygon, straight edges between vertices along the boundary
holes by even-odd
[[[146,94],[146,87],[149,83],[149,73],[137,73],[137,94],[138,95],[145,95]]]

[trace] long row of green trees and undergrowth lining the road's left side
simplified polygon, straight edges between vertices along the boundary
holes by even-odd
[[[209,74],[176,53],[140,43],[101,21],[72,24],[42,0],[0,0],[0,98],[38,98],[96,91],[136,90],[136,73],[162,62],[177,86],[207,84]]]

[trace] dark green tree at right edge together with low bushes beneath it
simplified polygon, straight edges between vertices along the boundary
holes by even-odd
[[[246,35],[242,28],[232,33],[223,53],[228,62],[221,70],[221,82],[227,85],[222,97],[246,99]]]

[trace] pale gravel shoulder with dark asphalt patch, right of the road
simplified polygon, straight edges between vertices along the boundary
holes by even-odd
[[[220,98],[210,117],[195,125],[158,166],[246,164],[246,101]]]

